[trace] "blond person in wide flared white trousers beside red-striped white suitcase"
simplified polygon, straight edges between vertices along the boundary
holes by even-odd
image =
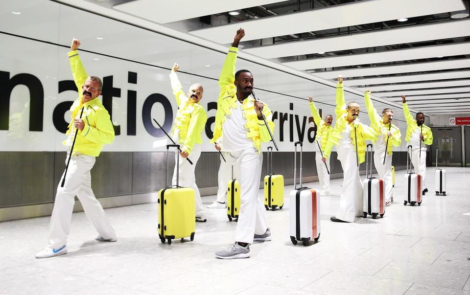
[[[364,162],[366,140],[375,138],[374,130],[359,121],[360,106],[350,102],[346,107],[343,91],[343,76],[338,76],[336,86],[336,123],[329,136],[323,153],[323,162],[329,158],[333,145],[336,145],[338,159],[343,167],[343,188],[336,216],[332,222],[354,222],[355,217],[362,216],[362,183],[359,176],[359,164]],[[356,131],[354,133],[354,130]],[[357,142],[356,142],[357,137]],[[357,144],[356,144],[357,143]],[[356,156],[357,145],[357,156]],[[356,158],[357,157],[357,158]]]

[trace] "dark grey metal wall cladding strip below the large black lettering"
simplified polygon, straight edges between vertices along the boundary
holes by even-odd
[[[273,172],[294,177],[294,153],[274,152]],[[190,158],[190,157],[189,157]],[[155,192],[165,186],[166,152],[103,152],[92,169],[96,197]],[[174,169],[174,153],[169,154],[169,181]],[[53,202],[65,170],[65,152],[0,152],[0,207]],[[299,158],[297,159],[300,160]],[[317,175],[315,153],[303,155],[303,176]],[[406,152],[394,152],[396,169],[406,165]],[[219,154],[204,152],[196,165],[199,187],[217,186]],[[341,173],[336,153],[331,153],[331,173]],[[261,179],[267,174],[267,155],[263,153]],[[365,170],[365,163],[360,169]],[[298,172],[299,173],[299,172]]]

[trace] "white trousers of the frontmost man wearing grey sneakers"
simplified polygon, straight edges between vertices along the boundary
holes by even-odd
[[[258,155],[254,148],[248,148],[232,152],[232,162],[241,192],[235,242],[252,244],[255,233],[263,234],[268,228],[264,219],[263,197],[259,195],[263,155]]]

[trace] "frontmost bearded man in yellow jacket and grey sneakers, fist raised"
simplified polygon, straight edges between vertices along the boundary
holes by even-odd
[[[238,43],[243,36],[245,31],[237,30],[219,77],[220,95],[211,140],[215,142],[223,138],[224,149],[231,154],[241,192],[235,243],[215,252],[216,257],[223,259],[250,257],[249,246],[253,241],[271,240],[271,232],[264,219],[264,203],[258,193],[263,161],[261,141],[271,140],[268,128],[274,131],[274,123],[268,106],[250,96],[253,74],[246,69],[235,73]]]

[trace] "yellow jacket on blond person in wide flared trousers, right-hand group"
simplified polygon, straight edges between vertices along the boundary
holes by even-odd
[[[354,121],[348,123],[348,121],[346,120],[348,111],[346,109],[346,102],[344,100],[343,84],[338,84],[336,86],[336,108],[334,109],[334,113],[336,114],[336,124],[334,125],[333,131],[329,135],[327,147],[323,152],[323,158],[328,158],[331,154],[331,149],[333,148],[333,145],[339,144],[339,139],[343,138],[343,136],[341,136],[341,133],[344,132],[347,124],[350,124],[352,130],[354,130]],[[356,133],[359,163],[362,163],[365,161],[366,140],[374,139],[376,137],[376,133],[374,132],[374,129],[362,123],[359,123],[359,125],[356,127]],[[351,132],[350,137],[355,152],[356,140],[354,137],[354,131]]]

